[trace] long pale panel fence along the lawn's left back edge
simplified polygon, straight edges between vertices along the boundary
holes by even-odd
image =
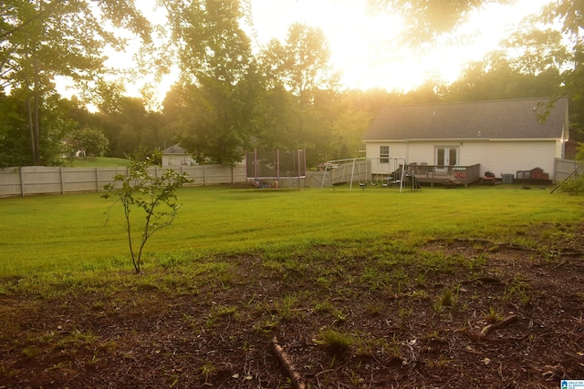
[[[152,167],[151,174],[162,175],[167,168]],[[235,184],[246,181],[245,165],[196,165],[174,169],[186,173],[192,184],[205,186]],[[0,169],[0,197],[27,196],[48,193],[97,192],[113,182],[117,174],[127,174],[128,168],[51,168],[30,166]]]

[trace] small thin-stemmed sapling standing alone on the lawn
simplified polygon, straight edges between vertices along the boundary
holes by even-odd
[[[156,177],[151,174],[150,167],[150,159],[145,161],[132,159],[128,174],[116,175],[112,183],[103,187],[105,194],[101,196],[103,199],[116,198],[110,210],[118,202],[123,206],[131,261],[136,273],[141,271],[141,256],[146,241],[157,230],[170,226],[181,208],[181,204],[176,202],[178,200],[176,189],[181,188],[185,183],[193,182],[186,173],[179,174],[172,169]],[[146,213],[146,220],[142,220],[144,224],[143,226],[140,224],[138,230],[133,229],[132,220],[136,219],[130,218],[130,211],[134,209],[141,209]],[[108,210],[108,220],[110,210]],[[141,238],[139,242],[136,242],[135,235],[140,230]]]

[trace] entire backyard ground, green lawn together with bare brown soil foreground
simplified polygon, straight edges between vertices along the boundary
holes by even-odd
[[[287,387],[275,335],[311,388],[548,387],[549,366],[584,372],[582,197],[179,196],[141,274],[120,205],[99,193],[0,199],[0,387]]]

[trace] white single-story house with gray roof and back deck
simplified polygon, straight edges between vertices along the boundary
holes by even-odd
[[[385,107],[362,140],[367,158],[379,160],[373,174],[391,171],[383,165],[403,157],[421,182],[470,183],[486,171],[515,177],[534,168],[554,179],[555,159],[565,157],[569,138],[568,98],[559,98],[540,122],[537,114],[546,113],[548,103],[524,98]]]

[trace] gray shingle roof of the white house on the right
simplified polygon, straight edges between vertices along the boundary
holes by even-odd
[[[362,139],[560,138],[567,124],[568,98],[561,97],[540,124],[537,111],[544,112],[548,102],[549,98],[525,98],[384,107]]]

